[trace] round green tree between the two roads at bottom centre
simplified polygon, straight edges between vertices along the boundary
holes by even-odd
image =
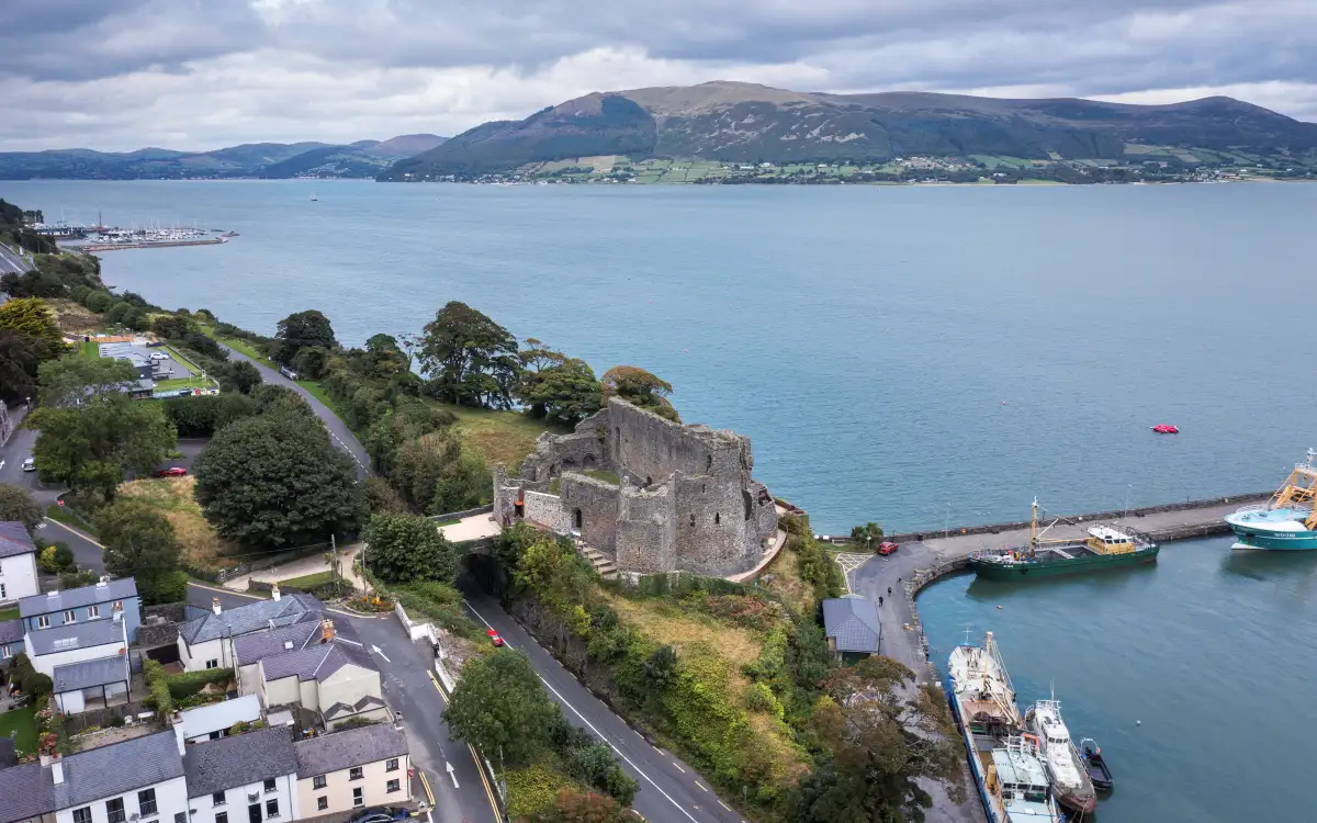
[[[504,765],[529,764],[548,740],[553,703],[531,661],[510,648],[474,657],[444,710],[449,731]]]

